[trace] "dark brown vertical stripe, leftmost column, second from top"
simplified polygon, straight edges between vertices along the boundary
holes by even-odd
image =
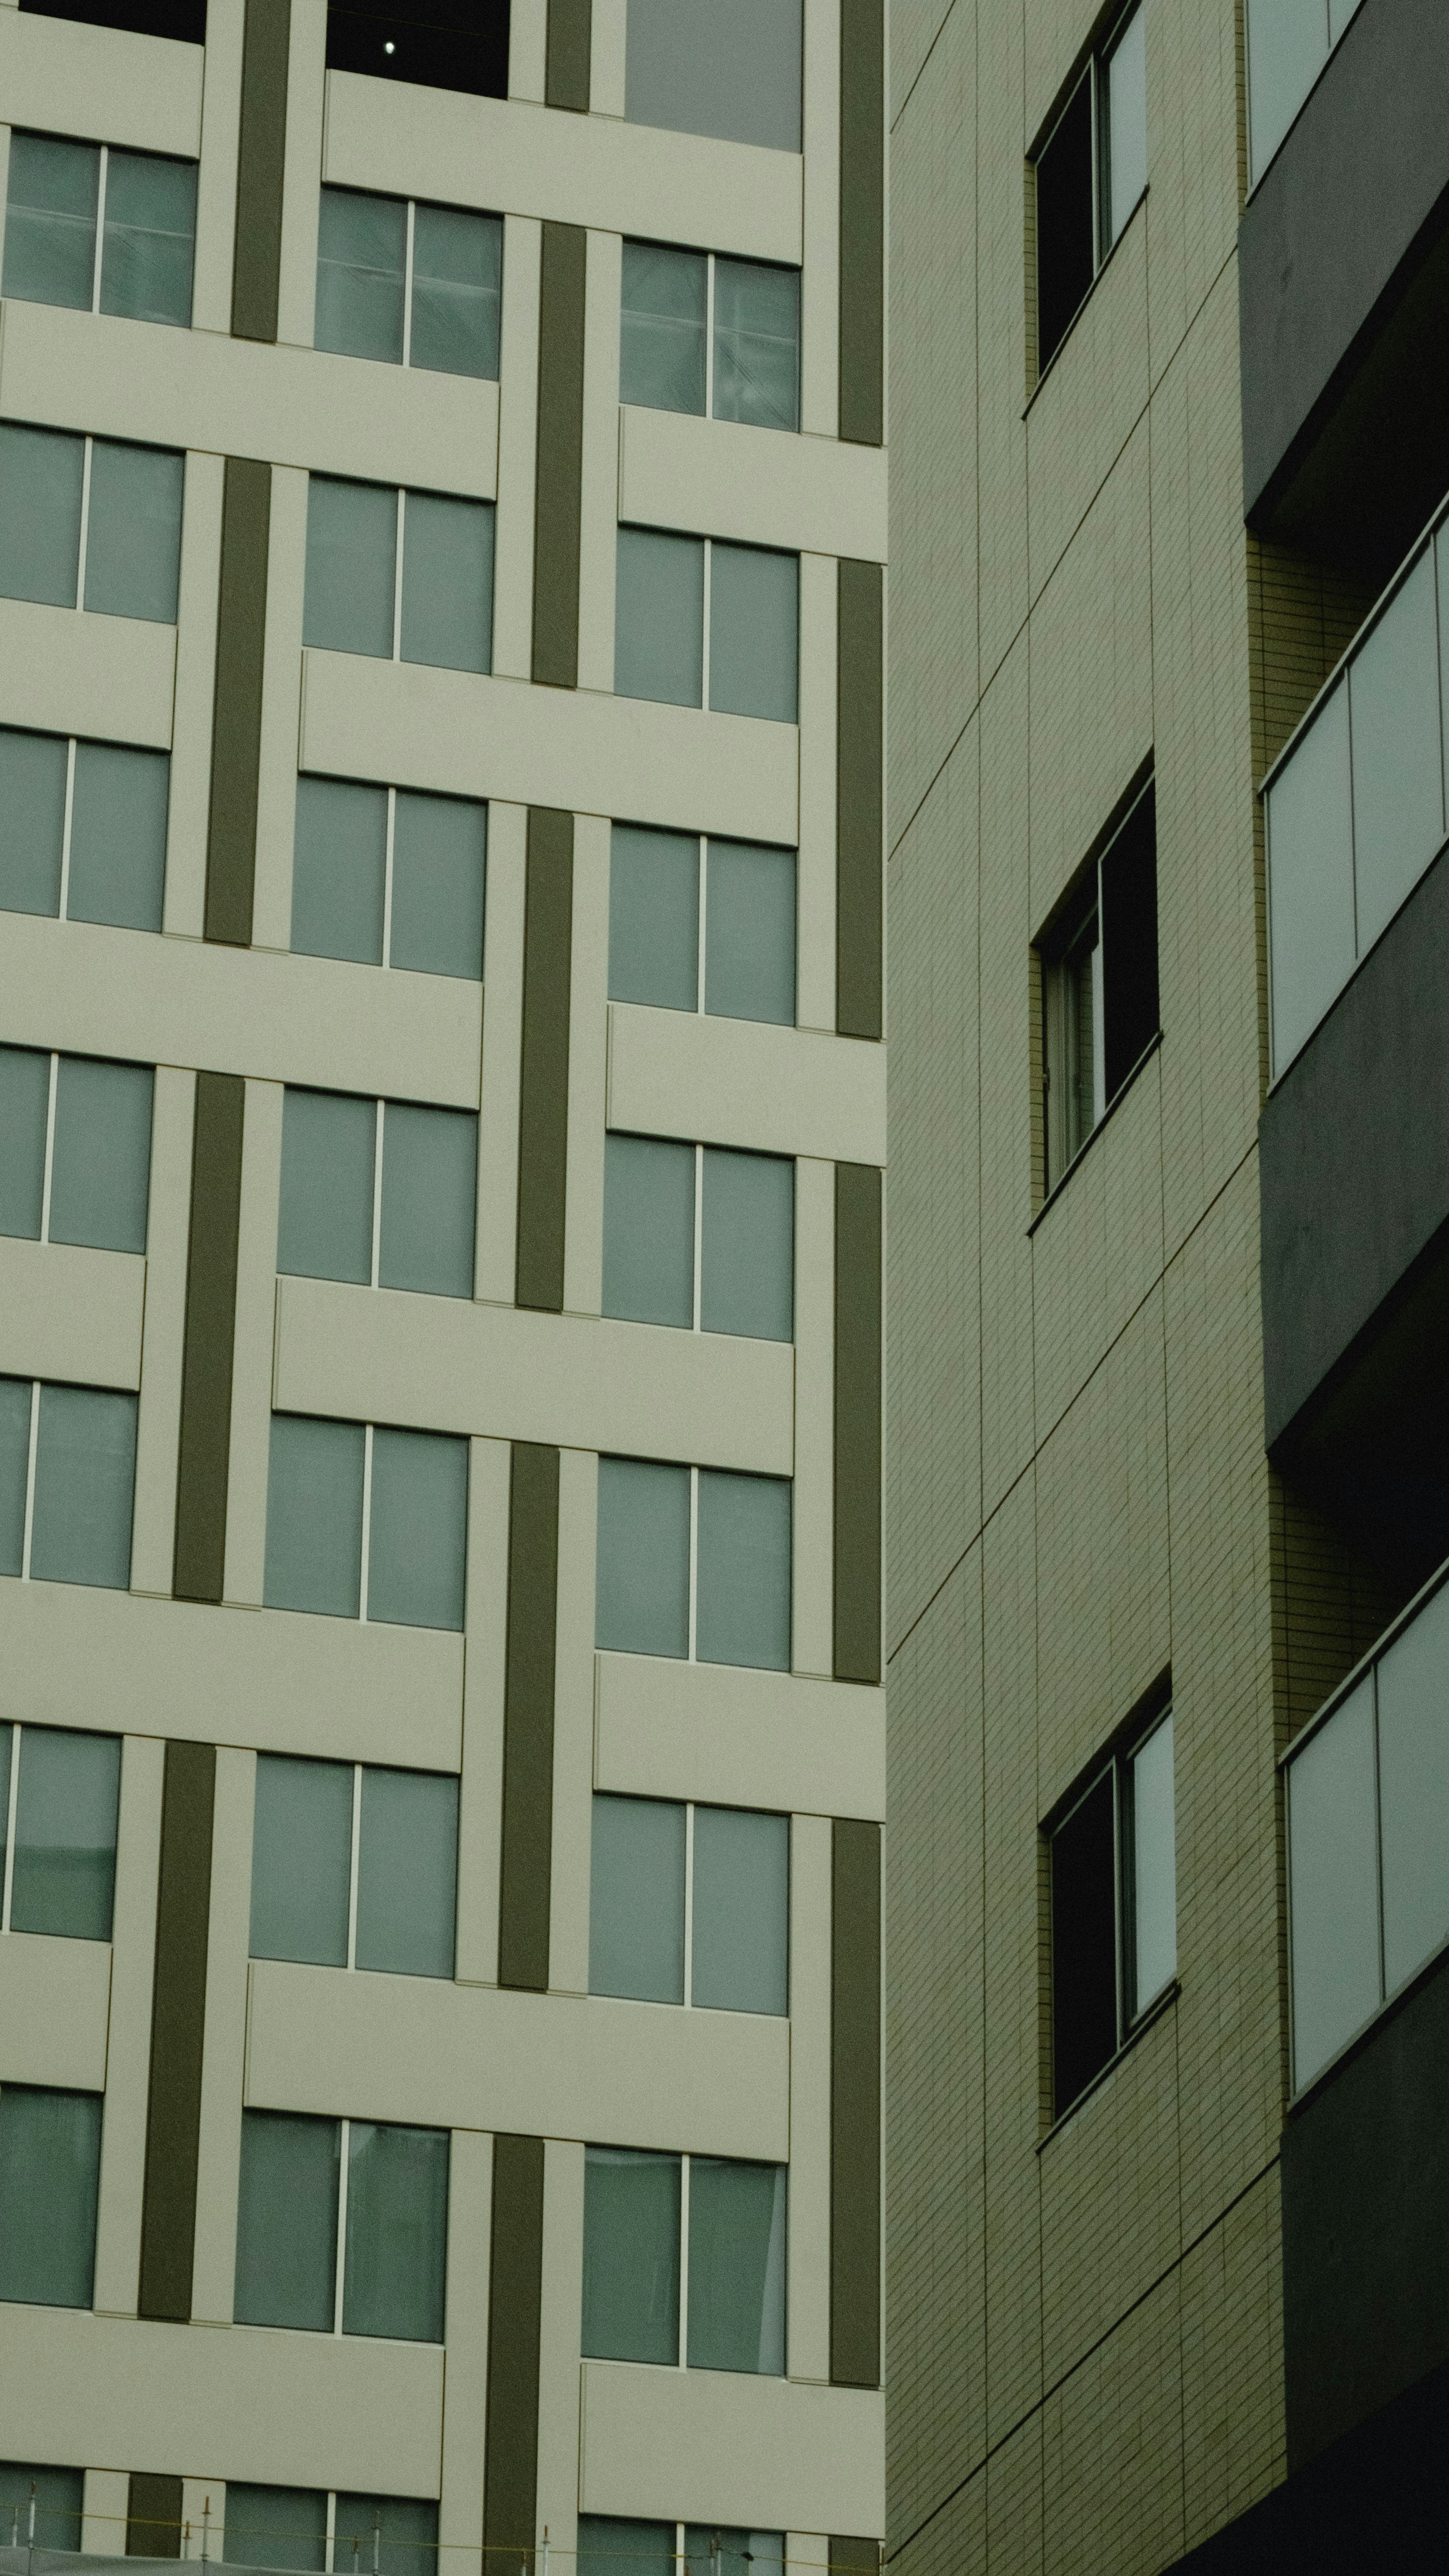
[[[204,933],[229,948],[253,943],[268,536],[271,466],[227,456]]]

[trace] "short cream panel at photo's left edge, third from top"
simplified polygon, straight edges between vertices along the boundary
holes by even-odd
[[[0,1370],[139,1386],[144,1288],[147,1265],[137,1252],[0,1236]]]

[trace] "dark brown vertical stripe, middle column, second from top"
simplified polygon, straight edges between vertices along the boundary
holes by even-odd
[[[549,688],[578,688],[585,265],[588,234],[580,224],[544,224],[531,672]]]

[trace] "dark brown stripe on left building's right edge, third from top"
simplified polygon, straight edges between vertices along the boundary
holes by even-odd
[[[835,1636],[838,1682],[879,1682],[882,1177],[835,1164]]]

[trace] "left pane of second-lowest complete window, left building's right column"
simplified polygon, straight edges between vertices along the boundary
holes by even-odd
[[[683,1806],[596,1798],[588,1991],[683,2004]]]

